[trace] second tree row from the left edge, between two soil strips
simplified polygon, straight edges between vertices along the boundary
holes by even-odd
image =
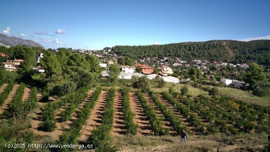
[[[14,116],[18,116],[20,114],[20,111],[22,109],[22,98],[23,95],[25,93],[25,87],[26,85],[21,83],[20,87],[17,91],[17,93],[15,94],[13,100],[11,101],[11,103],[8,106],[8,109],[4,111],[3,113],[3,118],[11,118]]]

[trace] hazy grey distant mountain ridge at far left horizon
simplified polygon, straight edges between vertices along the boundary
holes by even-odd
[[[7,46],[16,46],[16,45],[26,45],[28,47],[42,47],[41,44],[36,43],[32,40],[17,38],[17,37],[8,37],[6,35],[0,34],[0,43]]]

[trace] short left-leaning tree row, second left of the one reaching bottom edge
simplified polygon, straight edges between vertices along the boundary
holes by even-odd
[[[74,95],[70,96],[71,104],[60,114],[60,121],[66,122],[71,118],[71,114],[87,97],[88,88],[79,89]]]

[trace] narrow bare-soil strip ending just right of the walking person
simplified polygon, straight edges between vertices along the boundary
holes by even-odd
[[[179,117],[179,119],[181,119],[181,123],[183,123],[183,124],[185,124],[185,125],[187,125],[188,126],[188,128],[189,128],[189,130],[192,132],[192,134],[195,134],[195,135],[197,135],[197,134],[201,134],[201,132],[200,131],[198,131],[198,129],[196,128],[196,127],[194,127],[194,126],[192,126],[191,124],[190,124],[190,122],[183,116],[183,115],[181,115],[178,111],[177,111],[177,109],[175,109],[167,100],[165,100],[163,97],[162,97],[162,95],[161,94],[156,94],[157,95],[157,97],[159,98],[159,100],[164,104],[164,105],[166,105],[176,116],[178,116]]]

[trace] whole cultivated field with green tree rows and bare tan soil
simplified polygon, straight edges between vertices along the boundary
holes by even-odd
[[[4,92],[8,86],[9,90]],[[31,89],[22,87],[22,84],[0,87],[0,93],[8,94],[1,103],[1,119],[4,119],[4,111],[14,108],[17,98],[21,98],[22,103],[31,101]],[[267,143],[262,130],[270,120],[267,108],[226,97],[201,95],[187,98],[177,92],[123,91],[81,89],[50,102],[42,100],[42,94],[36,93],[37,108],[27,114],[30,129],[40,143],[48,142],[48,139],[57,143],[78,141],[94,143],[97,149],[100,145],[117,144],[117,150],[124,152],[178,151],[179,148],[186,148],[187,152],[203,149],[238,151],[247,147],[257,151]],[[189,142],[179,145],[183,128],[188,132]],[[260,138],[258,133],[262,133]],[[223,141],[217,141],[220,138]],[[252,146],[246,139],[258,145]]]

